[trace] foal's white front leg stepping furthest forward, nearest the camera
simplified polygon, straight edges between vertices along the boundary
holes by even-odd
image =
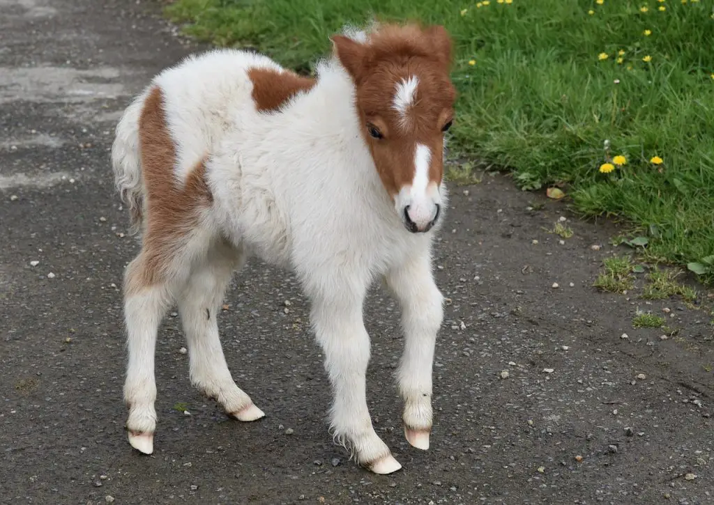
[[[334,437],[351,449],[359,464],[376,474],[390,474],[401,464],[374,431],[367,408],[370,342],[362,320],[363,297],[363,293],[351,297],[345,292],[323,292],[313,298],[311,319],[333,388]]]

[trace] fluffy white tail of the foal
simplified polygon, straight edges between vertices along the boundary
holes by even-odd
[[[141,177],[141,147],[139,146],[139,117],[146,93],[141,93],[126,108],[114,132],[111,146],[111,166],[114,186],[121,201],[129,207],[129,234],[141,228],[144,207],[144,182]]]

